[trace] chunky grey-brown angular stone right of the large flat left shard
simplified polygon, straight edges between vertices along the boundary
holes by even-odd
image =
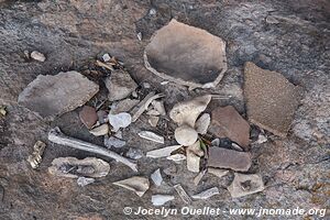
[[[110,77],[106,79],[106,87],[109,90],[109,100],[117,101],[127,98],[138,87],[130,74],[122,69],[111,72]]]

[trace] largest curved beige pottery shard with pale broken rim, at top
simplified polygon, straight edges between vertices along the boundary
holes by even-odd
[[[227,70],[226,43],[176,20],[158,30],[144,51],[153,74],[189,87],[215,87]]]

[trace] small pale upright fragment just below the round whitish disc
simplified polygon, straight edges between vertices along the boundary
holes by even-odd
[[[198,173],[200,157],[204,156],[204,151],[200,148],[200,142],[197,141],[186,148],[187,155],[187,169],[189,172]]]

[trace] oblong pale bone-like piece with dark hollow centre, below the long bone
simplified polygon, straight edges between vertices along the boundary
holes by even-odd
[[[86,157],[78,160],[75,157],[57,157],[52,162],[48,172],[55,176],[78,178],[85,177],[103,177],[110,170],[110,165],[96,157]]]

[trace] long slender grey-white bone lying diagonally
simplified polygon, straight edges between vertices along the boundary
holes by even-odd
[[[61,131],[61,129],[58,127],[56,127],[50,131],[48,140],[56,144],[61,144],[61,145],[69,146],[73,148],[78,148],[81,151],[87,151],[87,152],[91,152],[91,153],[111,157],[111,158],[116,160],[117,162],[121,162],[124,165],[129,166],[134,172],[138,172],[138,165],[135,163],[132,163],[130,160],[128,160],[112,151],[109,151],[102,146],[67,136]]]

